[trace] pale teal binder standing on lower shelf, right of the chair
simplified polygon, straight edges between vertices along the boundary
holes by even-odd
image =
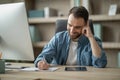
[[[101,24],[93,24],[94,35],[102,40],[102,25]]]

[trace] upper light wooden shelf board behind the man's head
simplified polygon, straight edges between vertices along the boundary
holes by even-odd
[[[28,21],[30,24],[55,23],[57,19],[67,19],[67,17],[29,18]],[[90,19],[93,21],[120,21],[120,14],[117,14],[115,16],[90,15]]]

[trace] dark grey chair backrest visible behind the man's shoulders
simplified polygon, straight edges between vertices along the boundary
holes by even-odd
[[[93,35],[94,35],[93,23],[92,23],[91,19],[89,20],[89,26],[90,26],[90,29],[91,29]],[[67,19],[58,19],[56,21],[55,33],[60,32],[60,31],[66,31],[66,30],[67,30]]]

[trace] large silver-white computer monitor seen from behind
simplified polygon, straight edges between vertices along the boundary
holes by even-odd
[[[0,5],[0,52],[5,60],[34,60],[24,2]]]

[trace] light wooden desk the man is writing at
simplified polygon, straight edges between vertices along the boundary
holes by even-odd
[[[34,64],[15,63],[14,65],[34,66]],[[120,68],[93,68],[87,67],[88,71],[64,71],[65,66],[58,66],[59,69],[54,72],[45,71],[7,71],[0,74],[0,78],[16,78],[17,80],[120,80]],[[12,79],[12,80],[13,80]]]

